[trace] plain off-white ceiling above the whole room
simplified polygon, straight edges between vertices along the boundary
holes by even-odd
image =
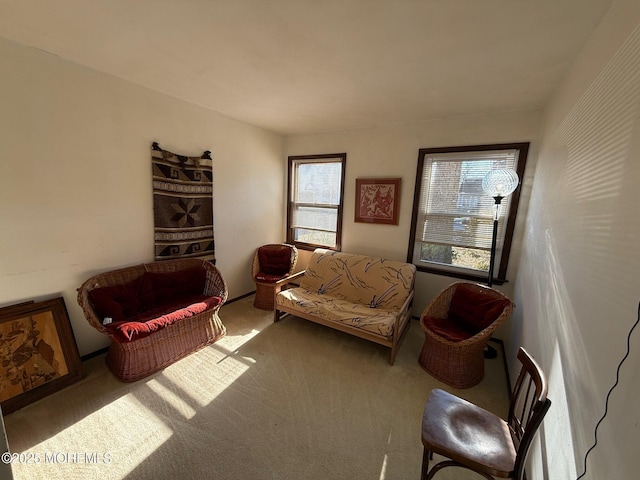
[[[0,0],[0,37],[283,134],[542,108],[612,0]]]

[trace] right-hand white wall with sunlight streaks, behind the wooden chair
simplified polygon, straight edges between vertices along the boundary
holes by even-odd
[[[640,300],[640,2],[622,0],[543,120],[515,288],[512,347],[549,373],[553,402],[529,478],[584,470]],[[638,478],[640,338],[620,372],[585,479]],[[513,362],[514,363],[514,362]]]

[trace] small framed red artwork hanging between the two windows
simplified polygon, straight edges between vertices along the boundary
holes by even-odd
[[[356,178],[355,221],[398,225],[400,178]]]

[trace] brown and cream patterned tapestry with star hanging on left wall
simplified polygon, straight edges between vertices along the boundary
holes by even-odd
[[[186,157],[151,146],[155,259],[199,257],[215,264],[211,152]]]

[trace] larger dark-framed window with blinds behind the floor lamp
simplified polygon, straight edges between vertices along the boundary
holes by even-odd
[[[528,149],[528,143],[420,149],[407,261],[423,272],[486,280],[495,202],[482,179],[498,168],[522,179]],[[520,187],[500,207],[497,284],[506,280],[519,196]]]

